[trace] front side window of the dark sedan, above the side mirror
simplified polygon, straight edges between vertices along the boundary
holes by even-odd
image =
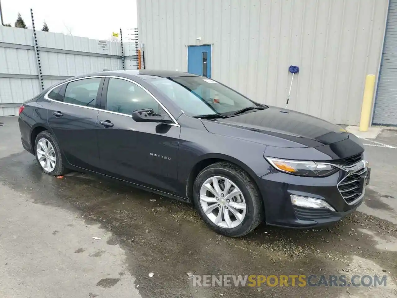
[[[157,101],[138,85],[123,79],[109,79],[106,110],[131,115],[136,110],[145,109],[165,113]]]

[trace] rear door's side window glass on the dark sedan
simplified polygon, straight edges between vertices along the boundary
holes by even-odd
[[[78,104],[79,106],[95,107],[100,80],[100,77],[94,77],[68,83],[64,102]]]

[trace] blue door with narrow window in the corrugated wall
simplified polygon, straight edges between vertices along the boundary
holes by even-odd
[[[211,45],[187,47],[187,72],[211,77]]]

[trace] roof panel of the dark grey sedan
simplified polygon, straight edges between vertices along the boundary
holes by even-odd
[[[178,72],[174,70],[110,70],[103,72],[96,72],[94,74],[89,74],[89,76],[94,75],[117,75],[120,77],[135,76],[140,79],[154,79],[158,77],[198,77],[199,75],[189,74],[187,72]]]

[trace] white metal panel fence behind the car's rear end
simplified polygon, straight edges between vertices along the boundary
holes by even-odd
[[[0,116],[17,115],[41,83],[47,88],[75,75],[138,68],[135,42],[123,43],[122,53],[118,42],[35,33],[36,39],[31,29],[0,26]]]

